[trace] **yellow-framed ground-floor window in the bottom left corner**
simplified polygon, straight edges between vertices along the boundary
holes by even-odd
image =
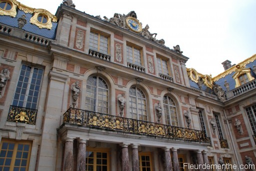
[[[30,153],[30,142],[2,140],[0,171],[28,171]]]

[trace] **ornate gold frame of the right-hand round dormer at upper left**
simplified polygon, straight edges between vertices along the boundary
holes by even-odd
[[[37,25],[39,28],[47,28],[51,29],[52,23],[51,22],[57,22],[57,17],[52,15],[49,11],[45,9],[34,9],[34,15],[30,18],[30,23]],[[41,23],[37,20],[38,15],[44,15],[47,17],[46,23]]]

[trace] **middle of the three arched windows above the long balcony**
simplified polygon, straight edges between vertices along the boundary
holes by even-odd
[[[129,90],[130,115],[133,119],[147,121],[146,97],[141,89],[133,86]]]

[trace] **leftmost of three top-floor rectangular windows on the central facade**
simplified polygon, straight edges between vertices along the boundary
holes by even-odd
[[[89,48],[108,54],[108,37],[96,32],[90,32]]]

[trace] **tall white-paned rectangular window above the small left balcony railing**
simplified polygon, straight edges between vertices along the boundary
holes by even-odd
[[[13,106],[36,109],[43,69],[22,64],[13,99]]]

